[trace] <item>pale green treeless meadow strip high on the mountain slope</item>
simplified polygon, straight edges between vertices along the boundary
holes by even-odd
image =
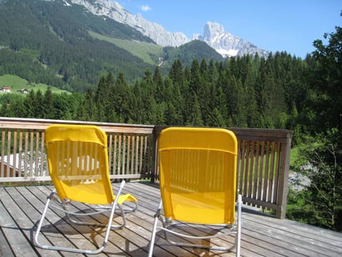
[[[111,44],[115,44],[115,46],[129,51],[130,54],[133,54],[134,56],[144,60],[147,64],[158,64],[158,57],[162,56],[162,46],[157,46],[156,44],[124,39],[114,39],[109,36],[97,34],[93,31],[89,31],[89,34],[95,39],[108,41]]]

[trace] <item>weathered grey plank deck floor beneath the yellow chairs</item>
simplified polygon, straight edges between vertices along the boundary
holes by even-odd
[[[115,190],[118,184],[113,184]],[[83,256],[33,246],[36,223],[51,186],[0,188],[0,256]],[[126,183],[124,192],[138,198],[139,208],[127,216],[126,228],[110,232],[108,246],[97,256],[147,256],[153,215],[159,203],[157,184]],[[78,206],[79,207],[79,206]],[[101,216],[103,218],[103,216]],[[97,218],[101,218],[97,217]],[[53,244],[92,246],[104,233],[88,226],[69,226],[60,212],[48,212],[42,231]],[[76,231],[78,230],[78,231]],[[57,232],[63,232],[57,233]],[[81,232],[81,234],[79,234]],[[100,233],[100,235],[98,234]],[[158,234],[159,235],[159,234]],[[233,237],[226,239],[228,243]],[[163,243],[163,235],[157,237]],[[212,240],[211,243],[217,243]],[[342,233],[265,216],[249,208],[242,213],[242,256],[342,256]],[[234,256],[175,246],[155,246],[155,256]]]

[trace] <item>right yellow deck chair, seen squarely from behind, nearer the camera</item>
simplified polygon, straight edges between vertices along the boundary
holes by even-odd
[[[149,256],[152,256],[156,233],[160,230],[165,231],[167,242],[175,246],[219,251],[236,248],[236,256],[239,256],[242,196],[238,196],[236,213],[237,138],[234,133],[227,129],[167,128],[160,133],[157,153],[161,201],[155,214]],[[158,226],[158,219],[162,226]],[[196,232],[194,236],[194,231],[189,234],[177,230],[185,224],[197,228],[197,232],[198,224],[200,228],[220,229],[214,229],[209,235]],[[170,233],[189,243],[172,240]],[[228,246],[211,246],[210,241],[205,245],[190,241],[232,234],[235,240],[230,246],[229,243]]]

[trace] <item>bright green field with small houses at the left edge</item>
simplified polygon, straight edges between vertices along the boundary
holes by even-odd
[[[21,89],[28,89],[28,91],[38,91],[41,90],[41,92],[45,92],[48,89],[48,85],[46,84],[35,84],[35,83],[29,83],[26,81],[26,79],[21,79],[19,76],[14,75],[3,75],[0,76],[0,88],[3,86],[9,86],[11,87],[11,92],[16,93],[16,91]],[[50,86],[51,91],[53,93],[67,93],[70,94],[70,92],[57,89],[56,87]]]

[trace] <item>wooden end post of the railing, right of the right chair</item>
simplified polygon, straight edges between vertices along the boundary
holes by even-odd
[[[292,133],[286,133],[285,143],[281,146],[281,162],[279,170],[278,194],[276,196],[276,204],[279,209],[276,211],[277,218],[285,218],[287,193],[289,192],[289,166],[290,166],[290,151],[291,151]]]

